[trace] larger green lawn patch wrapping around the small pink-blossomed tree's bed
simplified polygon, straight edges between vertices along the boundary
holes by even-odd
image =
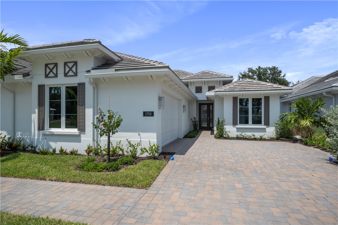
[[[0,159],[0,175],[5,177],[52,180],[148,189],[167,164],[163,160],[144,160],[117,172],[75,170],[83,156],[14,153]]]

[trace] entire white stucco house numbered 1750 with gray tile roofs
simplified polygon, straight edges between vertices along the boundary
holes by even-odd
[[[27,47],[14,73],[1,83],[0,132],[39,147],[79,149],[95,144],[97,107],[122,115],[113,144],[148,140],[160,147],[192,130],[226,129],[271,135],[279,96],[292,88],[233,76],[173,70],[158,61],[113,52],[97,39]],[[140,133],[140,135],[139,135]],[[104,144],[106,140],[102,138]]]

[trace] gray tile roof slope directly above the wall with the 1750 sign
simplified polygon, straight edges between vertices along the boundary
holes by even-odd
[[[127,55],[123,53],[114,52],[120,58],[122,58],[119,62],[106,62],[102,65],[96,66],[95,69],[116,69],[116,70],[127,70],[127,69],[146,69],[146,68],[168,68],[169,65],[150,60],[145,58],[140,58],[132,55]]]

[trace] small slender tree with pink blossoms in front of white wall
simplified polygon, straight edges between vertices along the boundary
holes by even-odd
[[[114,135],[118,132],[118,128],[121,125],[123,119],[121,115],[118,115],[118,112],[113,112],[109,109],[107,110],[107,115],[103,113],[101,110],[101,106],[97,107],[99,109],[99,114],[96,115],[96,119],[98,124],[92,122],[93,127],[99,132],[100,138],[102,136],[107,136],[107,154],[108,154],[108,162],[110,162],[110,136]],[[107,117],[107,119],[105,119]]]

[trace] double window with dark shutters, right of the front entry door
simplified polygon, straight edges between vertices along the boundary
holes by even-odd
[[[262,98],[239,99],[239,124],[262,124]]]

